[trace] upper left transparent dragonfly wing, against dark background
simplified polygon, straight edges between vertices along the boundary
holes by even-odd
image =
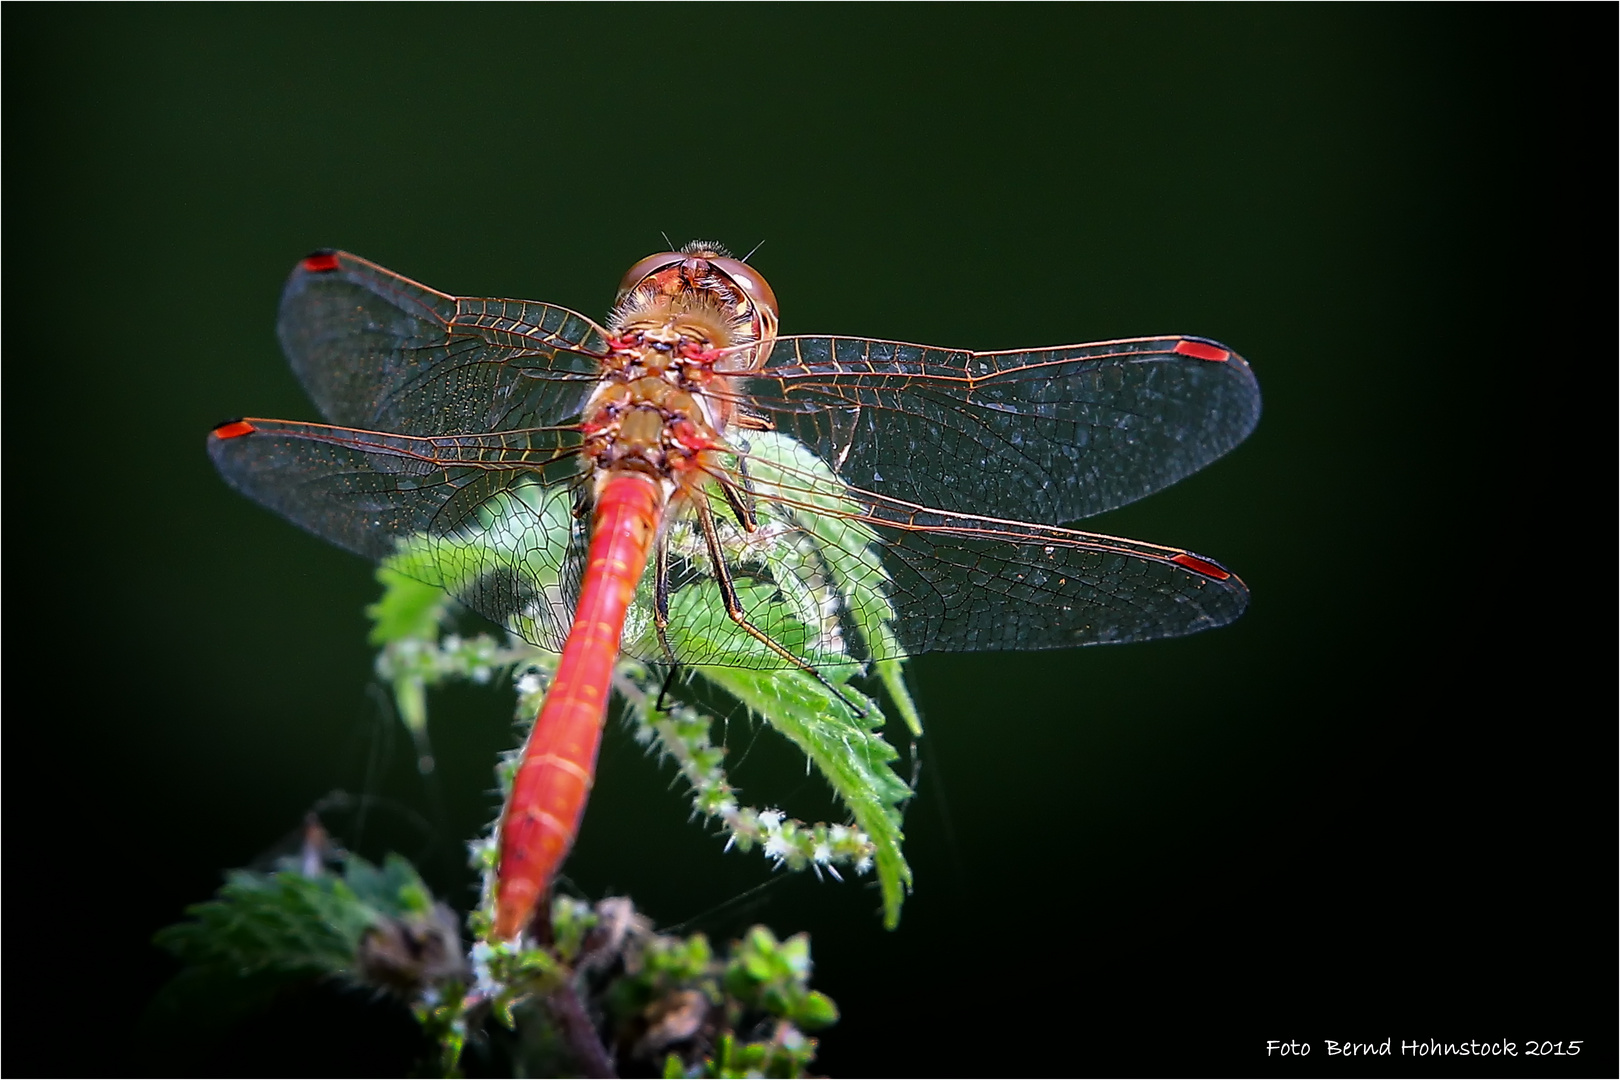
[[[567,308],[450,296],[343,251],[293,269],[277,332],[326,419],[413,436],[561,424],[606,351]]]

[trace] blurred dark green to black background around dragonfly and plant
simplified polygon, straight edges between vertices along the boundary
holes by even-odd
[[[773,874],[617,724],[580,891],[812,931],[834,1075],[1379,1069],[1328,1038],[1588,1040],[1486,1070],[1612,1075],[1586,508],[1614,449],[1584,439],[1614,431],[1614,31],[1602,5],[8,8],[6,1070],[144,1067],[149,934],[334,789],[434,823],[332,818],[470,900],[509,699],[434,701],[426,790],[368,696],[369,568],[204,455],[222,418],[313,418],[272,329],[293,261],[599,316],[664,232],[766,241],[787,332],[1230,342],[1259,431],[1095,525],[1254,602],[1181,641],[917,659],[896,933],[812,878],[708,913]],[[820,813],[774,735],[729,733],[752,800]],[[408,1030],[292,999],[211,1067],[397,1072]]]

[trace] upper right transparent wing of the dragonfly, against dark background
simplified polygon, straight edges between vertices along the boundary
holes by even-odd
[[[748,411],[854,487],[1047,525],[1176,483],[1260,416],[1247,361],[1192,337],[1001,353],[784,337],[740,384]]]

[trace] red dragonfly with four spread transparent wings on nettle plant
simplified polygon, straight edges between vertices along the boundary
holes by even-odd
[[[561,653],[501,819],[499,939],[578,834],[620,654],[826,682],[1247,606],[1210,557],[1066,528],[1254,429],[1259,384],[1226,345],[969,351],[779,321],[758,269],[706,241],[635,262],[606,325],[318,251],[277,332],[324,423],[209,434],[245,495]]]

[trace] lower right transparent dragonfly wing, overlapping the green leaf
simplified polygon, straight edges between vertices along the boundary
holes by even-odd
[[[731,476],[745,478],[757,528],[710,502],[724,572],[747,620],[816,665],[1170,638],[1225,625],[1249,601],[1236,575],[1202,555],[901,502],[846,486],[779,432],[752,442]],[[666,544],[676,656],[782,667],[719,604],[695,515],[676,517]],[[645,633],[627,631],[625,646],[658,659]]]

